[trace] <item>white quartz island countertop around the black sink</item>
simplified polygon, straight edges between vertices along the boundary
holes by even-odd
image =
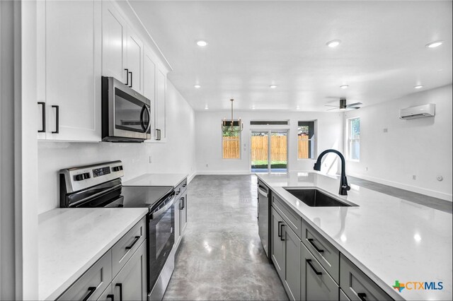
[[[316,172],[257,176],[394,299],[452,300],[452,214],[353,184],[339,196],[339,177]],[[317,187],[358,206],[310,207],[282,187]],[[395,281],[443,289],[398,293]]]

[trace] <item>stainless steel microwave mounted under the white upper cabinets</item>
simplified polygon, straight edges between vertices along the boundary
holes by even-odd
[[[102,140],[151,138],[151,101],[113,77],[102,77]]]

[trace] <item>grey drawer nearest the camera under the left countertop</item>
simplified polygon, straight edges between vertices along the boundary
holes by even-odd
[[[109,250],[57,300],[97,300],[111,281],[112,253]]]

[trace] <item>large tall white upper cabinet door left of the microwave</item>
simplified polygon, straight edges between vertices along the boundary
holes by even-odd
[[[101,3],[37,6],[38,138],[101,141]]]

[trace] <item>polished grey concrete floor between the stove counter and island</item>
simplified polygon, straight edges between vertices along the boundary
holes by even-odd
[[[198,175],[164,300],[287,300],[256,223],[254,175]]]

